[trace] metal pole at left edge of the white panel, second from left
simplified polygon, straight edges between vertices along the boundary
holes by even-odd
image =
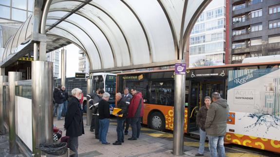
[[[15,81],[21,80],[21,72],[9,71],[9,144],[10,154],[18,154],[19,148],[16,142],[16,102]]]

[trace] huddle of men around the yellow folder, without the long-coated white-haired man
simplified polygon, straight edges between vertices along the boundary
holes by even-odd
[[[137,140],[139,138],[144,103],[142,93],[138,92],[135,87],[131,88],[131,94],[129,93],[129,88],[126,87],[123,94],[116,93],[115,95],[117,107],[121,110],[115,114],[117,117],[117,140],[112,143],[113,145],[121,145],[124,142],[124,135],[128,135],[130,124],[132,137],[128,140]],[[96,88],[94,93],[87,94],[87,100],[93,113],[90,131],[95,132],[95,139],[99,139],[104,145],[110,144],[106,140],[110,123],[110,110],[111,112],[113,110],[113,107],[110,107],[108,103],[109,98],[110,94],[100,88]]]

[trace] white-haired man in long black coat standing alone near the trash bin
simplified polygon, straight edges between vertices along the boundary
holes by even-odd
[[[69,136],[69,148],[75,152],[75,157],[78,157],[78,137],[84,132],[83,113],[79,100],[82,96],[82,90],[74,88],[72,90],[73,97],[69,101],[68,110],[65,116],[64,128],[66,136]]]

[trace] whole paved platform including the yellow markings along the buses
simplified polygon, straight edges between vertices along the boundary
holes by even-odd
[[[102,145],[99,140],[95,139],[94,132],[90,132],[90,127],[86,124],[84,117],[85,135],[79,137],[78,154],[79,157],[175,157],[172,154],[172,134],[155,131],[146,127],[141,128],[140,138],[137,140],[127,140],[131,137],[131,128],[129,134],[125,135],[125,142],[122,145],[112,145],[117,139],[116,119],[110,120],[107,140],[110,145]],[[64,121],[54,119],[60,129],[63,128]],[[63,131],[65,136],[66,131]],[[185,138],[184,157],[195,157],[198,153],[199,142]],[[204,157],[210,157],[208,144],[205,142]],[[227,157],[264,157],[245,151],[226,148]]]

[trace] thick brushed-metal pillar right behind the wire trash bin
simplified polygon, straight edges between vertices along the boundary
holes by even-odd
[[[40,143],[53,142],[53,63],[33,61],[32,70],[32,147],[35,157]]]

